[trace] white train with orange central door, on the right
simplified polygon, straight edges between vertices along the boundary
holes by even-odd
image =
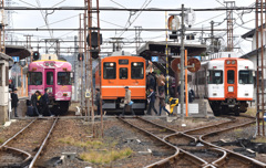
[[[196,96],[206,97],[214,115],[245,113],[253,101],[254,64],[249,60],[223,57],[202,63],[192,74]]]

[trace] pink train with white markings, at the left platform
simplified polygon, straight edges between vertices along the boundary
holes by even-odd
[[[72,95],[72,67],[66,61],[39,60],[30,63],[28,72],[29,98],[35,91],[48,90],[50,105],[68,111]]]

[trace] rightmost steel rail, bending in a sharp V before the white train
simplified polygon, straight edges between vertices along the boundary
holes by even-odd
[[[229,127],[229,128],[225,128],[225,129],[222,129],[222,130],[216,130],[216,132],[212,132],[212,133],[204,134],[204,135],[200,136],[200,141],[203,143],[203,144],[205,144],[205,145],[207,145],[207,146],[212,146],[212,147],[214,147],[214,148],[218,148],[218,149],[225,150],[225,151],[227,151],[228,154],[231,154],[231,155],[233,155],[233,156],[235,156],[235,157],[238,157],[238,158],[241,158],[241,159],[245,159],[245,160],[249,161],[249,164],[255,165],[256,167],[264,167],[264,168],[265,168],[265,167],[266,167],[266,164],[264,164],[264,162],[262,162],[262,161],[258,161],[258,160],[256,160],[256,159],[253,159],[253,158],[246,157],[246,156],[244,156],[244,155],[234,153],[234,151],[232,151],[232,150],[229,150],[229,149],[226,149],[226,148],[216,146],[216,145],[214,145],[214,144],[212,144],[212,143],[208,143],[208,141],[205,141],[205,140],[203,139],[204,137],[209,136],[209,135],[213,135],[213,134],[219,134],[219,133],[222,133],[222,132],[227,132],[227,130],[231,130],[231,129],[234,129],[234,128],[244,127],[244,126],[247,126],[247,125],[250,125],[250,124],[254,124],[254,123],[255,123],[255,122],[247,122],[247,123],[245,123],[245,124],[241,124],[241,125],[237,125],[237,126],[232,126],[232,127]],[[222,162],[222,161],[223,161],[223,160],[216,160],[216,161],[214,161],[213,164],[214,164],[215,166],[221,166],[221,165],[218,165],[218,162]]]

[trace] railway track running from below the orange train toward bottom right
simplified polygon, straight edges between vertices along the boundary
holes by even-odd
[[[141,117],[119,118],[119,119],[122,120],[123,123],[129,124],[130,126],[143,132],[147,136],[153,137],[154,140],[160,141],[166,148],[172,150],[173,154],[171,156],[168,156],[160,161],[156,161],[154,164],[151,164],[151,165],[146,166],[146,168],[153,168],[153,167],[156,167],[156,168],[163,168],[163,167],[197,168],[197,167],[207,167],[208,166],[208,164],[205,160],[203,160],[194,155],[191,155],[190,153],[182,150],[163,139],[164,137],[167,136],[167,134],[175,134],[175,130],[170,129],[167,127],[160,126],[150,120],[145,120]]]

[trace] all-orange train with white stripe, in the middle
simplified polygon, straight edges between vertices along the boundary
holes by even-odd
[[[95,87],[100,88],[102,80],[103,109],[117,112],[123,109],[125,86],[131,90],[133,109],[144,112],[146,109],[146,75],[145,59],[140,56],[109,56],[101,60],[101,76],[99,66],[95,71]]]

